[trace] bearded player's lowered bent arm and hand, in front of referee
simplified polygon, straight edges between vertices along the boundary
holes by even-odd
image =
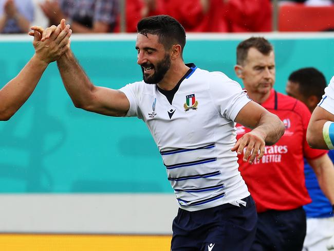
[[[265,145],[275,144],[285,130],[284,124],[279,117],[253,101],[248,102],[240,110],[235,122],[253,129],[239,138],[232,148],[232,151],[242,154],[243,149],[247,147],[243,160],[245,162],[248,160],[249,163],[253,163],[256,155],[257,159],[262,158],[265,152]]]

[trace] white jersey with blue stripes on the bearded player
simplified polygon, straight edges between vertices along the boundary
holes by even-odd
[[[234,119],[250,99],[226,75],[191,66],[172,104],[156,84],[141,81],[122,87],[130,102],[126,116],[137,116],[149,128],[180,208],[238,205],[250,193],[231,151]]]

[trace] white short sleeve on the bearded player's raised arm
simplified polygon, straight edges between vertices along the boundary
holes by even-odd
[[[120,88],[119,91],[125,94],[126,98],[128,99],[130,103],[130,108],[127,111],[125,117],[138,117],[141,118],[140,112],[139,112],[139,83],[132,83],[127,84],[124,87]]]

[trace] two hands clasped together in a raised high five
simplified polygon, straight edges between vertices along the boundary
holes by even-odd
[[[69,50],[72,30],[65,24],[65,19],[62,19],[58,26],[52,25],[46,29],[32,26],[31,29],[33,31],[30,31],[29,35],[34,37],[32,44],[35,48],[35,56],[45,63],[58,60]]]

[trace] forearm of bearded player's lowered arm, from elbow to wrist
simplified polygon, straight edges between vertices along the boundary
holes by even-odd
[[[276,115],[269,112],[263,113],[253,131],[261,133],[265,138],[266,145],[270,146],[275,144],[284,134],[284,124]]]

